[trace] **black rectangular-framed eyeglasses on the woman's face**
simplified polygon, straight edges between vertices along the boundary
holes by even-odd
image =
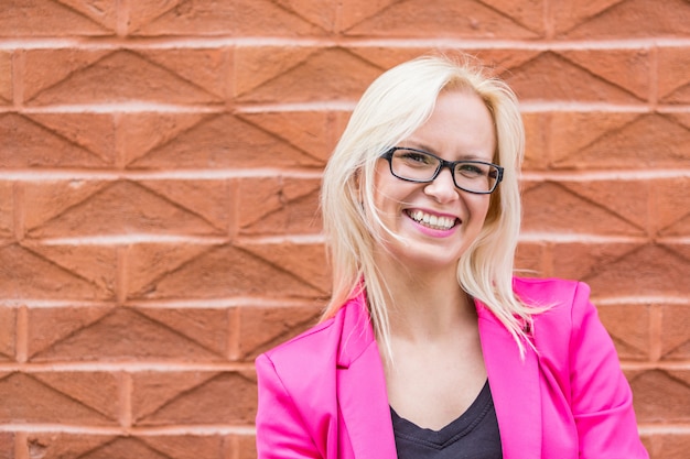
[[[448,167],[453,183],[463,192],[477,195],[493,193],[503,179],[503,167],[483,161],[445,161],[422,150],[393,146],[381,155],[390,173],[407,182],[433,182]]]

